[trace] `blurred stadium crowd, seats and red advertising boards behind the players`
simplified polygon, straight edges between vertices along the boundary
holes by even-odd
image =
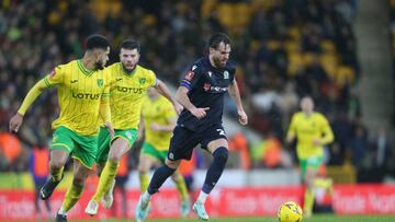
[[[8,132],[35,81],[81,58],[83,39],[100,33],[112,43],[110,63],[119,59],[124,38],[136,38],[140,63],[176,89],[187,67],[205,52],[205,37],[217,31],[233,40],[250,125],[235,122],[227,98],[232,155],[207,203],[211,215],[273,217],[283,201],[301,201],[295,152],[284,144],[284,133],[303,94],[314,97],[335,132],[321,171],[334,186],[317,190],[316,211],[395,214],[394,0],[2,0],[0,7],[0,221],[53,217],[70,183],[67,176],[49,201],[52,212],[35,202],[32,176],[48,171],[55,91],[35,102],[18,136]],[[115,208],[100,219],[133,218],[138,150],[136,144],[123,160]],[[183,167],[192,196],[208,163],[198,150]],[[97,180],[92,174],[71,218],[87,219],[82,210]],[[177,195],[171,183],[166,187],[155,197],[154,218],[178,217]]]

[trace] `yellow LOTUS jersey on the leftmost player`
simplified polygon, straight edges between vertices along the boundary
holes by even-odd
[[[74,60],[56,67],[44,82],[58,91],[60,114],[54,129],[65,126],[83,136],[98,133],[100,104],[110,91],[110,79],[102,70],[87,70],[81,60]]]

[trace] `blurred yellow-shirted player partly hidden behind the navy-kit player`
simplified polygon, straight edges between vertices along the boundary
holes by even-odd
[[[142,192],[147,190],[149,183],[148,172],[151,166],[165,164],[170,138],[177,120],[177,114],[171,103],[160,96],[158,91],[149,89],[147,94],[148,96],[143,103],[142,121],[138,128],[145,132],[145,142],[137,166]],[[187,217],[190,212],[190,201],[185,180],[178,171],[172,174],[171,178],[180,192],[181,215]]]

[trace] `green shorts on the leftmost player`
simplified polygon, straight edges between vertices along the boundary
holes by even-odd
[[[98,136],[82,136],[67,127],[58,127],[53,135],[50,149],[71,153],[71,157],[92,168],[98,153]]]

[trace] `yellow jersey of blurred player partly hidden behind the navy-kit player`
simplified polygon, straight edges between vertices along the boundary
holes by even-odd
[[[171,119],[177,118],[172,104],[163,96],[159,96],[156,101],[147,96],[143,103],[142,116],[145,125],[145,141],[159,151],[168,150],[172,132],[153,131],[149,126],[154,122],[169,125]]]

